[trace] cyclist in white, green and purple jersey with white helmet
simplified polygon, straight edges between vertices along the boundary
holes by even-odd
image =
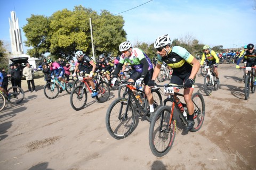
[[[151,80],[153,75],[153,64],[151,63],[149,57],[139,48],[133,48],[132,44],[129,41],[125,41],[119,45],[119,51],[122,52],[119,63],[116,66],[116,70],[114,72],[114,78],[112,79],[112,84],[115,84],[117,80],[117,75],[122,69],[125,62],[129,63],[132,67],[131,77],[129,78],[129,82],[135,82],[135,86],[141,84],[144,80],[145,86],[145,94],[149,101],[150,106],[150,117],[154,112],[153,106],[153,95],[151,94],[151,89],[146,86],[148,82]]]

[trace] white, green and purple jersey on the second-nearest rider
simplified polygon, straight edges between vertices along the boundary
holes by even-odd
[[[149,57],[139,48],[133,48],[131,56],[129,57],[124,57],[124,55],[122,55],[120,57],[119,63],[124,64],[124,62],[127,62],[132,66],[132,69],[142,73],[143,64],[140,61],[143,58],[146,58],[148,62],[148,70],[153,69],[153,64],[150,62]]]

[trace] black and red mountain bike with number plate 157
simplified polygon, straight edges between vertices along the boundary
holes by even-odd
[[[186,111],[186,104],[182,104],[184,108],[184,112],[182,112],[174,99],[174,95],[184,97],[184,95],[179,94],[179,91],[174,92],[175,90],[183,88],[183,86],[166,84],[164,86],[156,85],[156,87],[164,87],[164,95],[167,96],[167,98],[164,100],[164,106],[157,109],[157,112],[154,114],[150,122],[149,146],[155,156],[161,157],[169,152],[174,142],[176,133],[176,120],[174,119],[174,113],[179,115],[183,126],[187,125],[188,120],[186,115],[183,115]],[[191,99],[194,104],[193,117],[195,125],[190,131],[196,132],[201,129],[204,122],[205,104],[204,98],[199,92],[193,94]],[[167,101],[171,102],[170,106],[166,106]],[[176,108],[177,112],[174,112],[174,108]]]

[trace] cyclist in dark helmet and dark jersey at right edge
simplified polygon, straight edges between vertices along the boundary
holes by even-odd
[[[247,57],[246,67],[253,67],[256,65],[256,50],[254,49],[253,44],[248,44],[247,50],[241,55],[241,57],[238,58],[237,63],[236,63],[237,69],[240,68],[239,63],[245,56]],[[256,71],[256,69],[255,69],[255,71]],[[245,72],[248,73],[247,70]],[[254,81],[253,85],[256,86],[256,77],[255,77],[255,81]]]

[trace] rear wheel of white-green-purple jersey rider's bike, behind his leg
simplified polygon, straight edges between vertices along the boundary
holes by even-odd
[[[153,95],[153,100],[154,100],[153,105],[154,105],[154,110],[156,112],[159,107],[163,106],[163,99],[162,99],[161,93],[156,89],[152,89],[151,94]],[[149,102],[147,97],[145,101],[145,106],[146,106],[146,112],[148,114],[146,117],[147,117],[147,120],[150,121],[149,120],[150,108],[149,108]]]

